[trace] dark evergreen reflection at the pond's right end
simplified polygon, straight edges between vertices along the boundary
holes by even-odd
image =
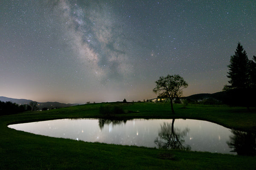
[[[256,155],[256,134],[251,132],[242,132],[239,130],[231,130],[233,136],[230,136],[230,142],[227,142],[231,152],[238,155]]]

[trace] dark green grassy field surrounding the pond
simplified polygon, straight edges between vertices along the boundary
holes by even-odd
[[[122,108],[122,114],[101,114],[100,107]],[[0,116],[0,169],[256,169],[256,157],[89,143],[21,132],[9,124],[62,118],[200,119],[236,130],[256,132],[256,110],[224,105],[164,103],[98,103],[50,111]]]

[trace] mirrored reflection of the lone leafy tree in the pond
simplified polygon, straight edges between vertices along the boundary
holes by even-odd
[[[174,128],[174,121],[175,119],[172,119],[172,124],[164,122],[163,125],[161,125],[161,130],[154,140],[154,143],[157,144],[159,148],[163,149],[190,150],[191,147],[184,144],[185,140],[183,139],[183,136],[189,132],[189,128],[186,127],[182,131],[176,129]]]

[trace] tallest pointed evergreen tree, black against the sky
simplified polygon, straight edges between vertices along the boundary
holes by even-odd
[[[229,72],[227,77],[230,79],[230,85],[226,85],[224,90],[233,88],[247,88],[249,85],[249,59],[247,54],[240,44],[237,45],[235,55],[230,57]]]

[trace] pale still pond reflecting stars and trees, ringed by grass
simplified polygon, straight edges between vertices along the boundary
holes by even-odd
[[[247,133],[192,119],[57,119],[9,125],[29,133],[107,144],[229,153]],[[255,144],[255,134],[253,134]],[[248,136],[248,135],[247,135]],[[249,135],[250,136],[250,135]],[[241,141],[241,140],[240,140]],[[241,144],[240,144],[241,145]],[[233,148],[232,148],[233,147]],[[254,146],[255,148],[255,146]],[[244,150],[244,148],[240,149]],[[248,148],[247,150],[252,150]]]

